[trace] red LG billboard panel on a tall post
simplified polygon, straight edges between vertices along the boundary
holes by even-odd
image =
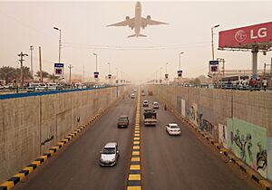
[[[272,45],[272,22],[219,32],[219,48],[268,50]]]

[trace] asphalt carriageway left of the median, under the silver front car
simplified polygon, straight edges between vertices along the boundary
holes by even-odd
[[[136,100],[128,97],[112,107],[91,128],[83,131],[64,150],[38,167],[24,183],[15,189],[60,190],[60,189],[125,189],[130,166],[133,124],[135,122]],[[117,128],[117,119],[128,115],[129,128]],[[117,166],[102,167],[99,164],[100,151],[109,141],[118,142],[120,157]]]

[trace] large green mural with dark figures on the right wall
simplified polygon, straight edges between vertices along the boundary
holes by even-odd
[[[227,119],[228,147],[248,166],[267,178],[267,128],[241,119]]]

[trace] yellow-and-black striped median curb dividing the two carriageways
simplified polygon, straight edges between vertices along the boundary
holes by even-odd
[[[138,89],[138,100],[135,117],[135,127],[131,152],[131,165],[127,178],[127,190],[141,190],[141,133],[140,133],[140,88]]]

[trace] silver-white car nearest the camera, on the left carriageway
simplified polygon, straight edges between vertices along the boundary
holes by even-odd
[[[109,142],[103,147],[100,152],[100,165],[101,166],[114,166],[119,157],[119,149],[116,142]]]

